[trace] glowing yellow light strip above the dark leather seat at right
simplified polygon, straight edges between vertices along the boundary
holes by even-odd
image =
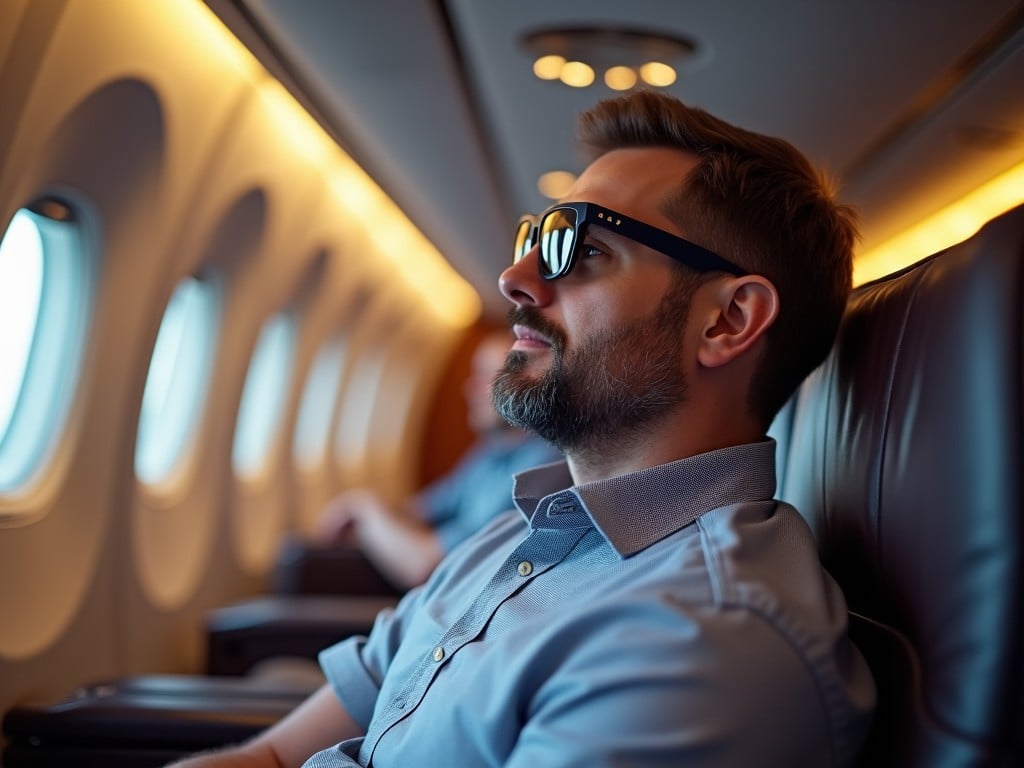
[[[988,221],[1024,203],[1024,163],[854,261],[855,285],[883,278],[962,243]]]

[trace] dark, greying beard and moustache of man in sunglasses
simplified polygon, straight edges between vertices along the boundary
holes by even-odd
[[[565,335],[532,306],[509,312],[551,342],[551,366],[535,379],[529,357],[512,351],[492,388],[495,408],[513,426],[536,432],[562,452],[622,449],[685,399],[680,349],[693,284],[677,278],[653,313],[585,337],[566,352]]]

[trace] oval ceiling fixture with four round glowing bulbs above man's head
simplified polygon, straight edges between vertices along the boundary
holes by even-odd
[[[696,44],[683,37],[620,27],[541,30],[521,42],[534,54],[538,78],[583,88],[595,82],[596,71],[604,73],[603,82],[612,90],[629,90],[641,81],[668,87],[696,51]]]

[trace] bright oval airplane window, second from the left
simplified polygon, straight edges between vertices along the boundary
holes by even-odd
[[[212,368],[220,294],[212,279],[186,278],[164,311],[135,443],[135,474],[142,482],[166,480],[196,430]]]

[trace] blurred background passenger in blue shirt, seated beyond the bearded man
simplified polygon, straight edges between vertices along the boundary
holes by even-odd
[[[507,332],[486,335],[466,380],[467,420],[477,442],[447,475],[402,505],[370,488],[332,500],[317,520],[321,544],[354,545],[388,584],[404,591],[422,584],[441,558],[494,517],[512,509],[512,476],[560,454],[509,424],[490,400],[490,382],[505,364]]]

